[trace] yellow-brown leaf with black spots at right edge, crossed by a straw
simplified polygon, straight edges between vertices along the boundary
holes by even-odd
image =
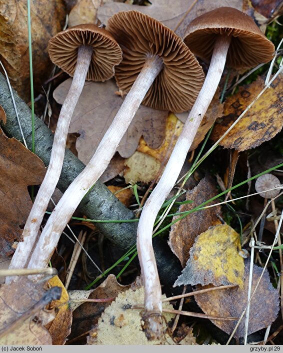
[[[211,139],[217,141],[264,87],[264,79],[239,87],[224,103],[221,122],[215,124]],[[239,152],[257,147],[281,131],[283,125],[283,78],[279,75],[257,99],[235,127],[220,141],[224,148]]]

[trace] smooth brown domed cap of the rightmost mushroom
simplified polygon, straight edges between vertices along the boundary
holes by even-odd
[[[233,7],[219,7],[194,18],[185,31],[184,42],[204,61],[209,61],[218,34],[232,36],[226,65],[250,68],[272,59],[274,45],[253,19]]]

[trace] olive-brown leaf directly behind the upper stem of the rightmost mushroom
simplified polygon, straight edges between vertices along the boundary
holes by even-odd
[[[217,89],[214,97],[209,104],[209,107],[203,116],[200,126],[196,132],[196,135],[192,141],[189,151],[193,151],[199,145],[199,143],[204,139],[206,133],[213,125],[214,121],[223,115],[223,104],[219,101],[219,89]],[[176,113],[178,119],[183,123],[185,122],[188,112]]]

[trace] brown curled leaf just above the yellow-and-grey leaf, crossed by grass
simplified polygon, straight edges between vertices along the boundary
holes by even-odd
[[[200,205],[206,200],[217,194],[215,183],[211,177],[205,176],[192,190],[187,191],[186,200],[191,200],[191,204],[181,205],[178,212],[185,212]],[[208,205],[215,203],[210,202]],[[169,234],[169,246],[172,252],[180,260],[182,267],[185,267],[187,259],[189,258],[189,250],[192,247],[195,238],[205,232],[209,227],[221,223],[217,217],[221,215],[220,206],[200,210],[188,214],[179,222],[171,226]],[[172,221],[179,216],[173,216]]]

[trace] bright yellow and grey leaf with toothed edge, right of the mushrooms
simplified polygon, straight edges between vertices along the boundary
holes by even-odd
[[[243,287],[244,263],[239,255],[240,238],[227,224],[199,234],[189,251],[189,259],[173,287],[181,285],[237,284]]]

